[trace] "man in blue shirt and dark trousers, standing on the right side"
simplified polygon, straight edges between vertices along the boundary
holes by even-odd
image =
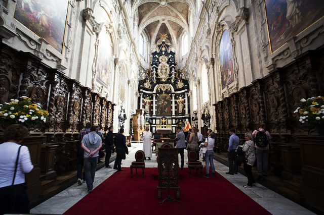
[[[235,134],[234,129],[229,129],[228,131],[229,137],[229,144],[228,144],[228,167],[229,171],[226,174],[234,175],[237,174],[237,162],[236,162],[236,148],[239,144],[239,137]]]

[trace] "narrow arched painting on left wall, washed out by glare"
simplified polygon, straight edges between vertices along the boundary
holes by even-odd
[[[111,41],[109,34],[102,31],[99,34],[98,59],[97,59],[97,81],[107,87],[109,78],[109,61],[111,57]]]

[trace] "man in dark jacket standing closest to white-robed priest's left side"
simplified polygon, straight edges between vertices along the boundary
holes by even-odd
[[[113,169],[117,171],[123,171],[121,170],[121,159],[126,159],[126,153],[128,154],[128,148],[126,146],[126,137],[123,133],[124,128],[120,128],[119,133],[116,134],[114,139],[117,155],[115,163],[113,165]]]

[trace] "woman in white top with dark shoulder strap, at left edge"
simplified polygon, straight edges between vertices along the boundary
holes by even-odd
[[[0,144],[0,214],[29,213],[25,173],[33,169],[27,146],[21,143],[28,136],[25,126],[14,124],[4,132]]]

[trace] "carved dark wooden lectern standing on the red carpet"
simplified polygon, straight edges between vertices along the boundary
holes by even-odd
[[[161,198],[162,189],[176,190],[176,198],[180,198],[179,163],[177,148],[158,149],[158,186],[157,198]]]

